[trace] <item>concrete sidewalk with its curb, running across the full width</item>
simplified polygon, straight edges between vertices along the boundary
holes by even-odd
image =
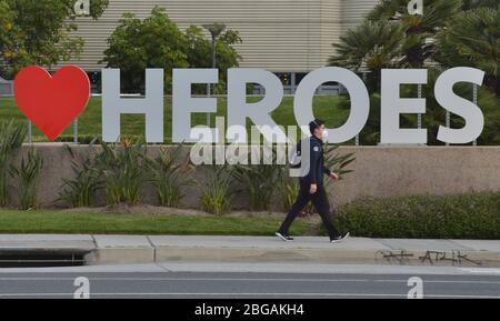
[[[500,240],[409,240],[324,237],[0,234],[0,259],[12,253],[83,253],[87,264],[152,262],[322,262],[500,267]]]

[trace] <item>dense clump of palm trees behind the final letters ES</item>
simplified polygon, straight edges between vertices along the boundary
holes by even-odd
[[[493,4],[494,3],[494,4]],[[423,87],[427,100],[424,127],[429,129],[429,142],[436,140],[436,131],[444,123],[444,110],[433,97],[436,78],[442,69],[457,66],[480,68],[488,73],[488,89],[479,89],[479,106],[486,116],[484,136],[481,143],[497,143],[496,120],[499,92],[499,32],[500,18],[498,0],[424,0],[423,16],[408,13],[408,0],[382,0],[364,19],[364,22],[340,38],[336,54],[329,64],[341,66],[358,71],[360,68],[373,71],[368,78],[371,112],[364,130],[360,133],[363,142],[378,141],[380,110],[380,69],[382,68],[428,68],[429,81]],[[492,8],[491,8],[492,7]],[[476,8],[473,10],[468,10]],[[467,10],[467,11],[466,11]],[[377,82],[373,83],[372,81]],[[402,88],[402,97],[416,97],[417,88]],[[457,94],[472,98],[472,87],[460,84]],[[403,114],[402,123],[414,126],[414,114]],[[461,118],[452,117],[451,126],[463,126]]]

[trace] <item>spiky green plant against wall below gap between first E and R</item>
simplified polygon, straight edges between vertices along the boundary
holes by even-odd
[[[202,187],[201,207],[204,211],[222,215],[231,210],[232,168],[228,165],[206,167],[206,180]]]

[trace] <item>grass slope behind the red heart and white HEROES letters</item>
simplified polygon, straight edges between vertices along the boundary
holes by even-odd
[[[249,97],[249,102],[261,100],[261,97]],[[313,99],[313,111],[316,117],[327,121],[327,127],[339,127],[349,117],[349,110],[339,108],[346,100],[341,96],[317,96]],[[166,142],[171,141],[172,130],[172,104],[171,97],[164,98],[164,137]],[[218,117],[226,117],[227,98],[218,97]],[[211,116],[211,126],[216,123],[216,114]],[[19,111],[13,98],[0,99],[0,120],[9,120],[27,123],[27,119]],[[280,107],[272,113],[272,119],[281,126],[297,124],[293,114],[293,98],[284,97]],[[192,126],[206,124],[207,116],[204,113],[192,114]],[[250,124],[250,123],[249,123]],[[101,99],[92,97],[87,109],[78,119],[79,136],[96,137],[101,136]],[[69,126],[62,136],[72,136],[73,127]],[[250,132],[250,131],[249,131]],[[137,114],[123,114],[121,117],[122,136],[144,136],[144,117]],[[43,134],[33,127],[33,141],[47,141]]]

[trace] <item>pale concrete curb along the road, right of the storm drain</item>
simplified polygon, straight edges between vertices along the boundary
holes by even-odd
[[[436,267],[500,267],[500,252],[443,250],[342,250],[242,248],[119,248],[96,249],[88,264],[164,262],[317,262]]]

